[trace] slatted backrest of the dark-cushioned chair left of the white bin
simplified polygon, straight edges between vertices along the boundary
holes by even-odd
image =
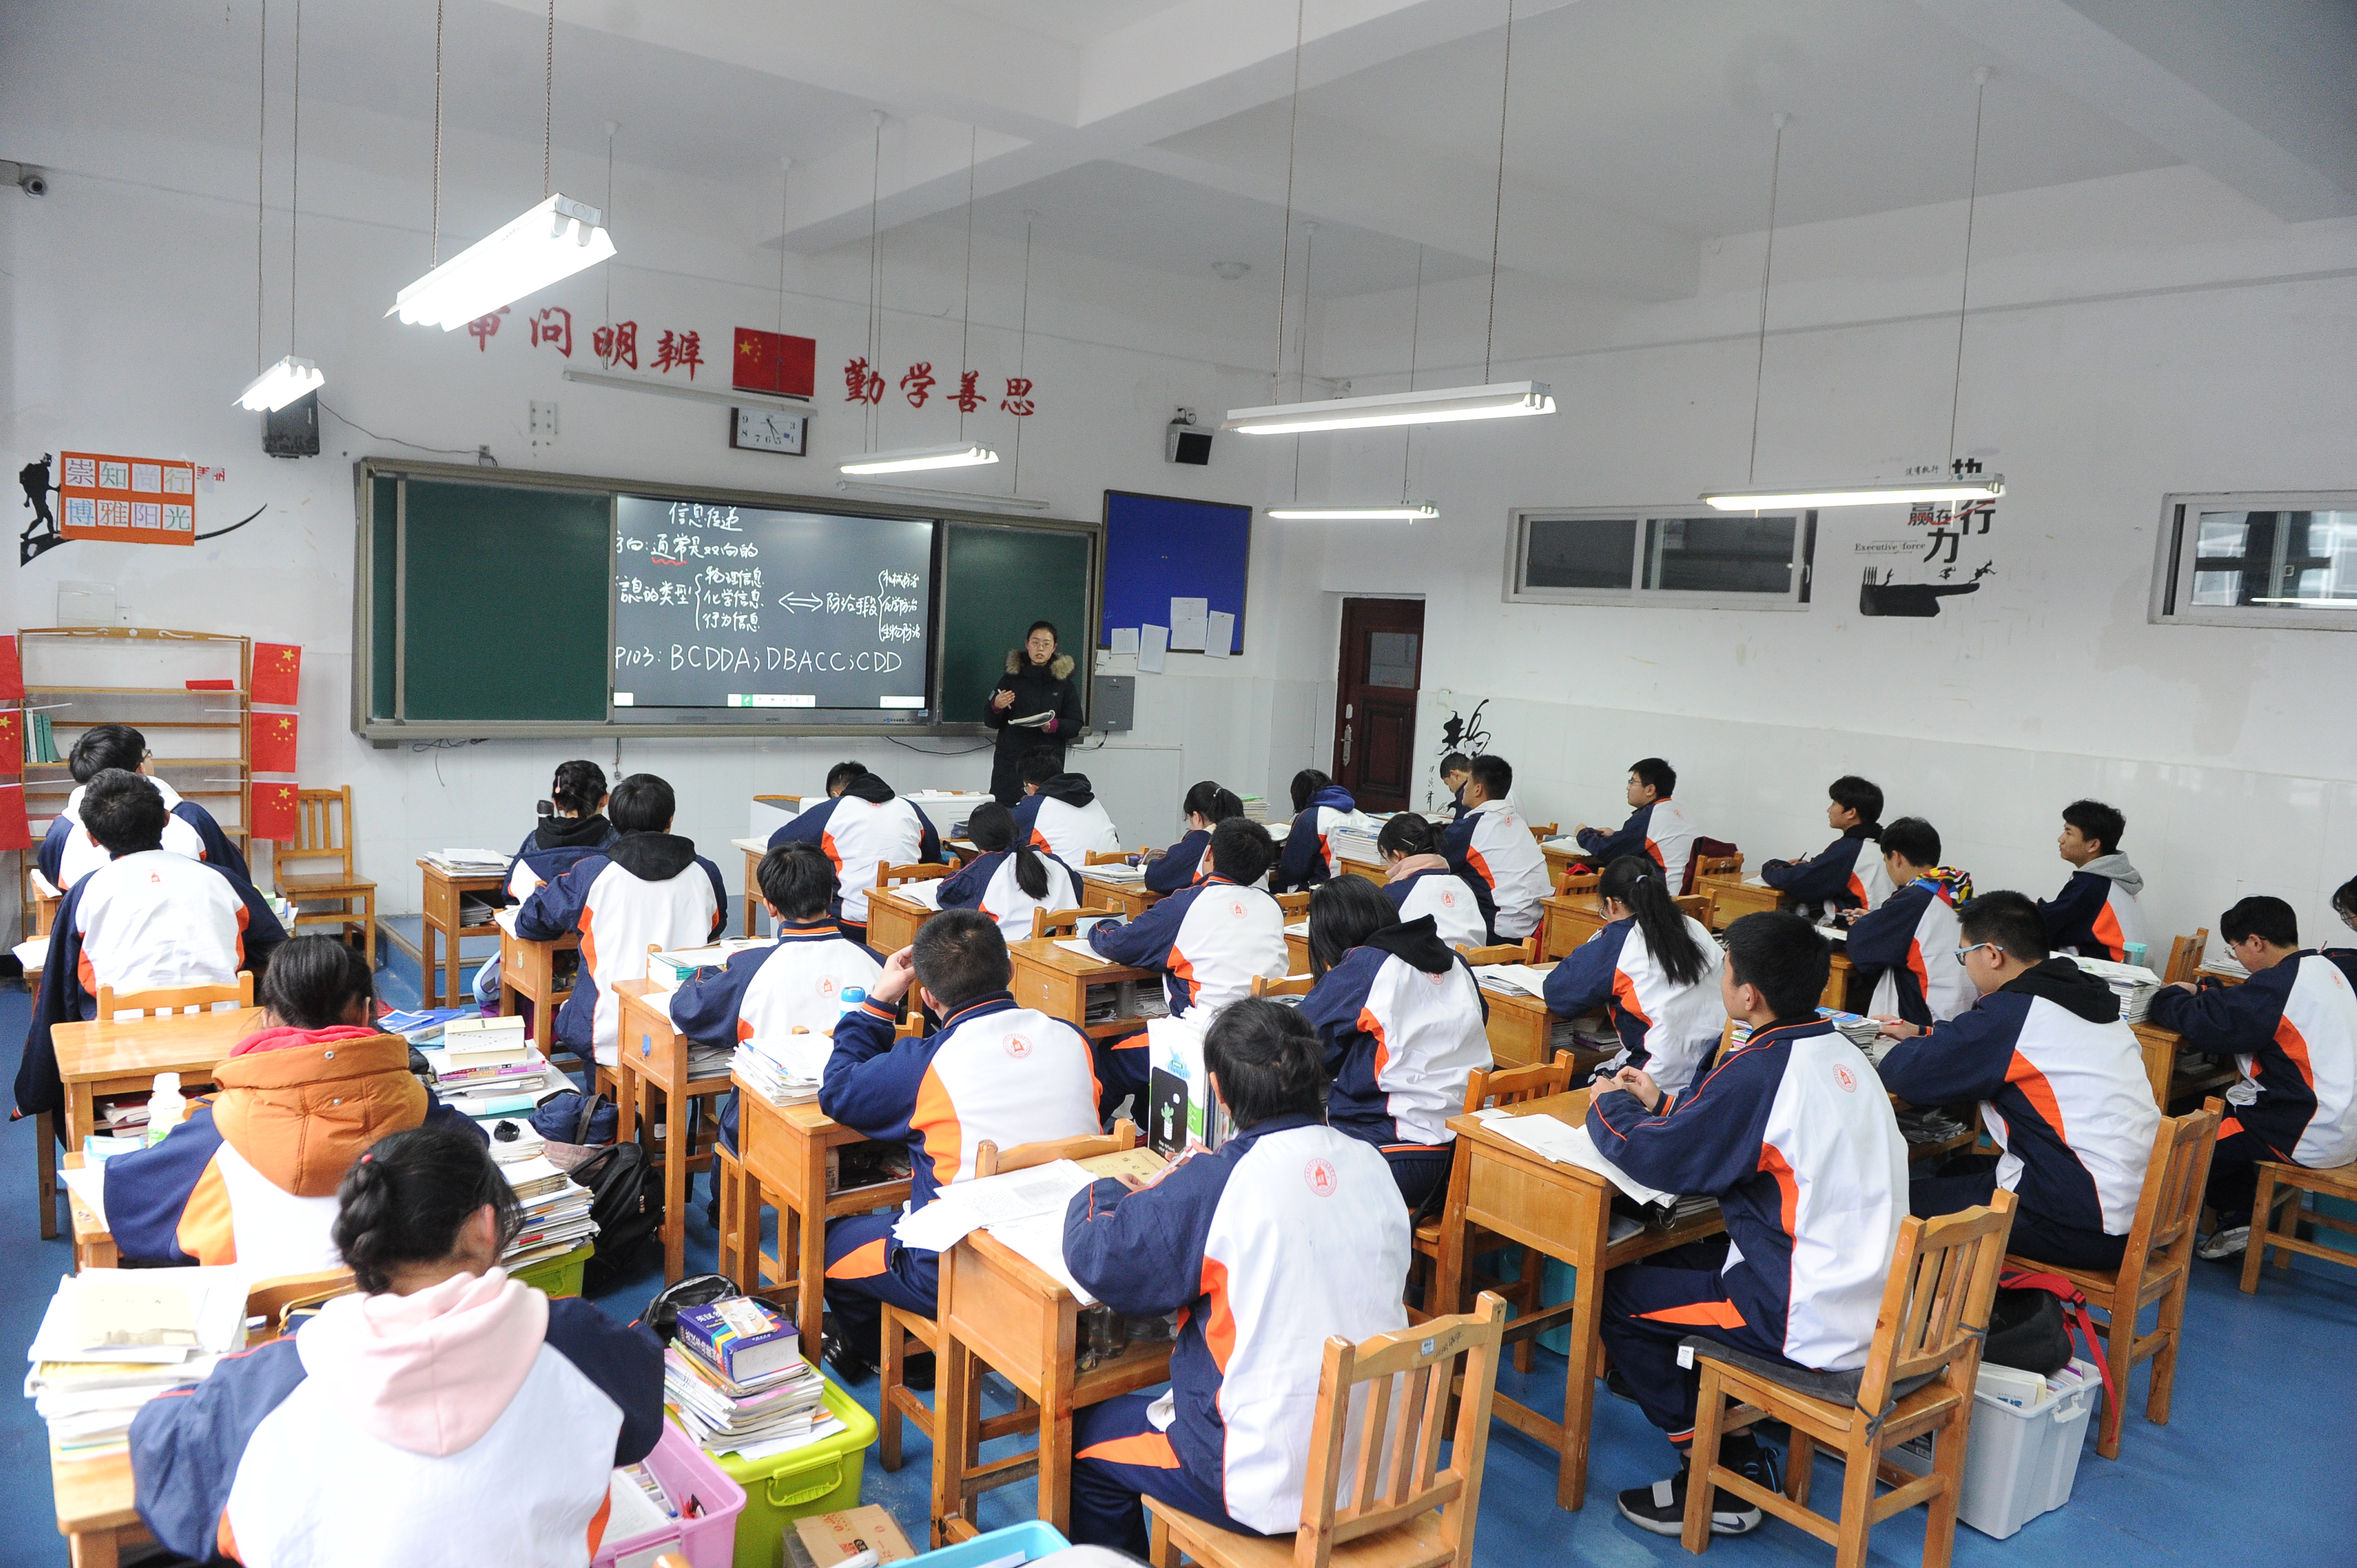
[[[2008,1236],[2013,1193],[2003,1188],[1989,1195],[1987,1207],[1900,1221],[1900,1245],[1890,1254],[1890,1280],[1857,1384],[1860,1410],[1881,1415],[1895,1384],[1933,1372],[1970,1403]]]

